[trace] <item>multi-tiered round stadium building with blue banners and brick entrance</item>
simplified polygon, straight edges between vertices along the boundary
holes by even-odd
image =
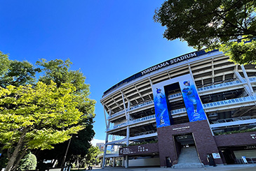
[[[222,52],[184,54],[104,92],[102,168],[256,163],[256,69]],[[107,154],[107,146],[114,153]]]

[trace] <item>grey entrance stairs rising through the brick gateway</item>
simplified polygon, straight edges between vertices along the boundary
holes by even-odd
[[[173,168],[203,168],[204,165],[199,161],[196,147],[182,147],[178,163]]]

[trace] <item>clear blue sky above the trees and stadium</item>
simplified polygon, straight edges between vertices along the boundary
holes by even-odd
[[[97,101],[95,139],[105,140],[104,91],[149,66],[192,52],[153,21],[163,0],[0,0],[0,51],[32,64],[69,58]]]

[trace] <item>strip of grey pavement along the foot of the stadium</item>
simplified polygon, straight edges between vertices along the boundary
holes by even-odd
[[[205,168],[180,168],[180,169],[173,169],[173,168],[158,168],[158,167],[130,167],[130,168],[122,168],[122,167],[107,167],[105,169],[93,167],[93,170],[97,171],[203,171],[203,170],[217,170],[217,171],[225,171],[225,170],[234,170],[234,171],[256,171],[256,164],[248,164],[248,165],[217,165],[216,167],[213,166],[206,166]]]

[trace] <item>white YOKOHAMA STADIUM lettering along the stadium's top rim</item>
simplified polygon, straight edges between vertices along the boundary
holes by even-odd
[[[147,73],[151,73],[151,72],[154,71],[154,70],[158,70],[158,69],[163,68],[163,67],[165,67],[165,66],[168,66],[168,65],[170,65],[170,64],[175,64],[175,63],[177,63],[177,62],[179,62],[179,61],[183,61],[184,59],[189,59],[189,58],[191,58],[191,57],[196,57],[196,52],[191,53],[191,54],[185,54],[184,56],[182,56],[182,57],[177,57],[177,58],[175,58],[175,59],[170,60],[169,62],[168,62],[168,61],[165,61],[165,62],[163,62],[162,64],[153,66],[153,67],[148,68],[148,69],[146,69],[146,70],[143,70],[143,71],[142,71],[142,75],[147,74]]]

